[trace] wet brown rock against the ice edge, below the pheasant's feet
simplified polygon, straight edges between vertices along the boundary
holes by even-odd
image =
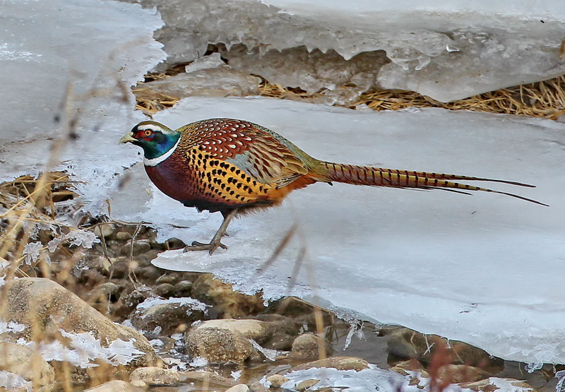
[[[234,292],[232,285],[204,273],[192,286],[192,297],[213,306],[211,313],[230,319],[257,314],[265,309],[261,295],[244,295]]]

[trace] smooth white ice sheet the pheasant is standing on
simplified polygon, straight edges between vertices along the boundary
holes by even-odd
[[[564,124],[444,109],[354,112],[266,98],[189,98],[155,115],[172,127],[209,117],[255,121],[324,160],[528,182],[537,188],[489,186],[550,207],[487,193],[314,184],[283,206],[232,222],[227,251],[167,251],[155,265],[212,271],[267,299],[292,293],[509,360],[565,362]],[[124,148],[136,155],[135,146]],[[219,214],[198,214],[161,194],[141,165],[112,196],[112,212],[152,222],[161,239],[186,243],[210,239],[221,222]],[[258,273],[293,224],[292,242]]]

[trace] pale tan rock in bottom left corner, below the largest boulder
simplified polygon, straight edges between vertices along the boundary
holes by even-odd
[[[31,348],[8,342],[0,342],[0,369],[16,374],[25,381],[33,381],[50,391],[55,381],[55,370]]]

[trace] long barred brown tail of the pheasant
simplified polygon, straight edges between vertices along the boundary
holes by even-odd
[[[489,179],[481,177],[460,176],[457,174],[443,174],[433,172],[415,172],[412,170],[395,170],[384,169],[383,167],[368,167],[357,165],[344,165],[341,163],[321,162],[328,169],[328,174],[324,177],[327,181],[344,182],[346,184],[369,185],[369,186],[392,186],[395,188],[417,188],[417,189],[444,189],[446,191],[455,191],[462,194],[470,194],[466,191],[484,191],[495,194],[503,194],[515,198],[521,198],[525,201],[547,206],[545,203],[526,198],[516,194],[510,194],[503,191],[494,191],[480,186],[469,184],[461,184],[456,182],[463,181],[488,181],[501,182],[503,184],[511,184],[518,186],[528,186],[534,188],[530,184],[521,182],[506,181],[504,179]]]

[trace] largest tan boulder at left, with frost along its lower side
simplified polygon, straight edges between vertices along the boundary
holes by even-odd
[[[4,287],[5,306],[0,309],[0,319],[6,323],[23,324],[25,328],[12,337],[35,341],[37,337],[47,338],[44,343],[59,340],[69,344],[69,338],[61,338],[61,332],[72,333],[76,338],[80,333],[87,333],[100,340],[103,347],[112,343],[119,344],[120,339],[133,345],[142,355],[129,361],[126,369],[140,366],[161,364],[161,360],[147,339],[133,328],[113,323],[107,317],[90,307],[82,299],[66,290],[61,285],[46,278],[20,278],[8,280]],[[88,372],[92,369],[86,369]],[[76,367],[73,371],[80,372]],[[83,370],[84,371],[84,370]]]

